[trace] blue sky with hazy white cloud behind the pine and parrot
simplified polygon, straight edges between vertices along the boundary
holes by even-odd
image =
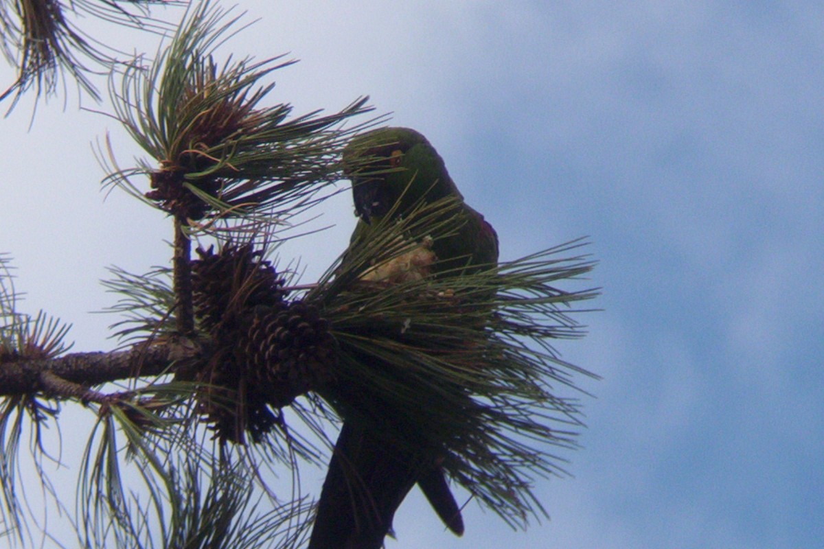
[[[301,59],[277,72],[273,103],[370,95],[438,148],[502,259],[586,235],[599,262],[602,311],[559,350],[603,379],[581,379],[595,398],[565,455],[573,477],[537,484],[551,519],[513,531],[471,502],[456,538],[414,491],[387,548],[820,547],[819,2],[239,3],[260,21],[233,52]],[[94,143],[109,133],[121,165],[143,155],[68,97],[0,120],[0,250],[27,309],[73,323],[74,350],[105,350],[114,319],[91,314],[115,299],[105,267],[166,263],[170,235],[101,192]],[[304,281],[345,246],[347,201],[325,203],[332,229],[281,251]]]

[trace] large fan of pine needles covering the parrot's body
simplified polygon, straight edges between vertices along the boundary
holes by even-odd
[[[320,389],[342,415],[358,416],[395,444],[442,448],[443,466],[508,523],[545,514],[531,491],[535,475],[562,475],[551,449],[575,447],[583,427],[576,375],[553,343],[580,337],[570,315],[596,291],[561,291],[582,277],[586,256],[559,257],[563,244],[461,277],[375,286],[359,281],[372,264],[407,253],[405,234],[427,227],[435,240],[460,227],[445,216],[455,200],[435,202],[374,230],[375,240],[341,261],[307,300],[325,304],[340,346],[337,383]],[[351,250],[350,250],[351,251]],[[391,413],[386,413],[391,410]],[[394,435],[392,434],[394,433]]]

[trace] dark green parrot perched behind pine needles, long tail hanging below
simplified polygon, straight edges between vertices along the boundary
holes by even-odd
[[[462,217],[455,234],[435,240],[425,234],[410,235],[415,241],[426,241],[426,248],[437,258],[424,262],[431,263],[426,266],[427,274],[431,269],[435,277],[460,276],[498,262],[498,235],[484,216],[463,202],[441,156],[420,133],[409,128],[380,128],[353,138],[344,150],[344,173],[352,181],[359,217],[350,249],[372,238],[387,214],[392,216],[389,221],[408,219],[422,201],[456,198],[456,209],[448,212],[453,216],[458,211]],[[368,275],[372,280],[392,277],[375,272]],[[363,398],[357,390],[353,389],[351,396]],[[377,409],[391,414],[380,405]],[[396,509],[415,484],[447,528],[460,536],[464,530],[461,509],[437,452],[414,452],[408,446],[391,444],[373,425],[364,423],[344,414],[309,548],[379,549],[391,530]]]

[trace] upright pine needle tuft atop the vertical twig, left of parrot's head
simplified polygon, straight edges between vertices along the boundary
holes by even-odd
[[[249,220],[293,215],[339,179],[336,151],[358,129],[341,124],[370,110],[366,98],[325,116],[289,118],[288,104],[262,106],[274,83],[260,81],[294,61],[230,57],[218,64],[217,50],[237,20],[199,2],[148,67],[135,60],[119,86],[111,81],[116,117],[152,161],[115,171],[107,184],[193,220]],[[130,183],[136,174],[151,177],[151,192]]]

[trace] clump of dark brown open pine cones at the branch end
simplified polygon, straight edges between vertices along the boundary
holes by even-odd
[[[194,313],[214,349],[198,374],[200,412],[219,439],[258,442],[278,421],[271,408],[332,378],[337,342],[314,305],[285,300],[283,278],[250,244],[198,254]]]

